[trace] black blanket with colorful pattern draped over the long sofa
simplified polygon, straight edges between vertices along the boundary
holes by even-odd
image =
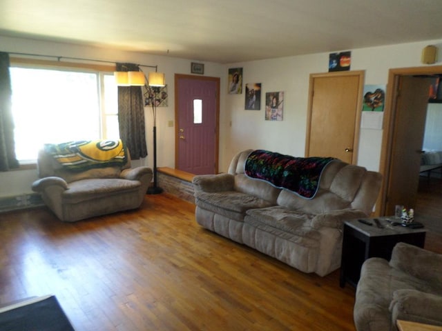
[[[268,181],[300,197],[313,199],[320,175],[333,157],[291,157],[267,150],[254,150],[247,157],[244,172],[248,177]]]

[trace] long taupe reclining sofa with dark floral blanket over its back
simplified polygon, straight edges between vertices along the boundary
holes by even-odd
[[[333,160],[307,199],[245,174],[252,152],[236,154],[227,173],[193,177],[196,221],[302,272],[339,268],[343,221],[372,212],[381,174]]]

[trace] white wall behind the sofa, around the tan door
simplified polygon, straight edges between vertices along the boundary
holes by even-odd
[[[365,84],[387,84],[390,68],[423,66],[421,50],[427,45],[442,46],[442,39],[376,48],[352,50],[352,70],[365,70]],[[340,50],[337,50],[340,51]],[[263,148],[303,157],[307,124],[309,74],[328,71],[329,53],[309,54],[282,59],[231,63],[229,68],[243,68],[244,83],[262,83],[261,110],[244,110],[244,94],[226,95],[230,110],[229,139],[222,159],[226,170],[232,155],[245,148]],[[438,64],[438,63],[436,63]],[[285,92],[284,120],[265,121],[265,93]],[[362,129],[358,164],[378,170],[382,130]]]

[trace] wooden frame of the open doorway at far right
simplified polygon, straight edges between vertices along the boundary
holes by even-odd
[[[381,161],[379,163],[379,172],[383,174],[381,192],[376,201],[375,214],[385,215],[387,205],[387,189],[390,182],[390,163],[392,158],[393,133],[396,119],[396,99],[398,96],[399,77],[410,75],[432,75],[441,74],[442,66],[430,67],[412,67],[412,68],[394,68],[388,72],[387,92],[385,94],[385,108],[383,119],[383,134],[381,145]]]

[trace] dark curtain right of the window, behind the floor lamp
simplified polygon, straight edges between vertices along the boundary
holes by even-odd
[[[139,71],[133,63],[117,63],[117,71]],[[146,126],[141,86],[118,86],[119,137],[126,143],[131,158],[146,157]]]

